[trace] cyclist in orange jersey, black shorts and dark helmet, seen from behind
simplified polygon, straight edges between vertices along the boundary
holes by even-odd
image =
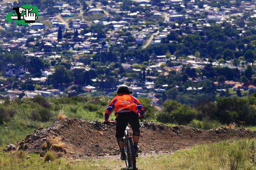
[[[126,159],[124,151],[124,130],[128,123],[133,130],[133,146],[138,156],[138,141],[140,138],[139,117],[144,118],[144,107],[138,99],[133,97],[132,91],[127,85],[120,85],[117,88],[117,96],[110,102],[105,112],[105,122],[108,122],[110,114],[115,111],[116,116],[116,140],[121,152],[121,160]]]

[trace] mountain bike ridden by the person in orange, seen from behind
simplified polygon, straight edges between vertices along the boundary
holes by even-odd
[[[141,119],[142,121],[142,119]],[[111,123],[116,123],[116,121],[110,121]],[[131,168],[132,170],[136,170],[136,157],[135,150],[133,147],[132,137],[129,136],[130,128],[127,126],[124,130],[124,151],[126,154],[126,159],[124,160],[126,164],[126,168]]]

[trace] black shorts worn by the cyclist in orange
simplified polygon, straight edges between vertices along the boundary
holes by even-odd
[[[124,137],[124,130],[130,124],[133,130],[133,135],[140,135],[140,123],[138,114],[134,112],[118,113],[116,118],[116,138]]]

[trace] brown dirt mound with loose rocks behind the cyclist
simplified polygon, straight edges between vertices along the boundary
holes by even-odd
[[[174,152],[194,144],[235,137],[256,137],[256,131],[244,128],[202,130],[185,126],[168,127],[156,123],[141,124],[140,148],[143,154]],[[40,152],[52,150],[67,158],[102,157],[119,154],[115,124],[86,122],[79,119],[59,119],[46,128],[39,128],[17,142],[18,150]]]

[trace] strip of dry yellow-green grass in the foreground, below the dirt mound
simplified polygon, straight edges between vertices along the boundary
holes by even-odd
[[[216,143],[202,144],[190,149],[179,150],[174,154],[157,156],[139,156],[139,170],[219,170],[219,169],[255,169],[250,161],[250,146],[256,138],[232,139]],[[125,168],[124,161],[117,158],[67,160],[58,158],[44,162],[39,154],[29,154],[29,160],[22,160],[9,152],[0,151],[0,169],[70,169],[70,170],[120,170]]]

